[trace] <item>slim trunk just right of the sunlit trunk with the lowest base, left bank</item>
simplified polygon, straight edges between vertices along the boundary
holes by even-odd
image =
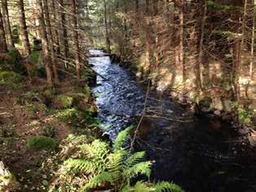
[[[52,35],[52,28],[51,28],[51,20],[50,20],[50,15],[49,15],[49,9],[48,9],[48,1],[43,0],[43,10],[45,11],[45,20],[46,20],[46,28],[47,28],[47,40],[48,40],[48,46],[49,50],[51,53],[51,63],[52,63],[52,68],[53,68],[53,73],[54,73],[54,79],[56,83],[59,83],[59,75],[58,75],[58,68],[57,68],[57,59],[56,59],[56,54],[55,54],[55,48],[54,48],[54,39]]]

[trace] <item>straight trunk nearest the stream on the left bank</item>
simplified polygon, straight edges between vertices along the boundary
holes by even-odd
[[[72,20],[73,20],[73,41],[75,46],[75,63],[77,70],[77,78],[81,79],[81,66],[80,66],[80,53],[79,53],[79,36],[77,25],[77,3],[76,0],[72,0]]]

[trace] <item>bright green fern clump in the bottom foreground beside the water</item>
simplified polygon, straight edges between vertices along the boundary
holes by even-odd
[[[100,140],[77,146],[62,164],[60,182],[51,191],[183,191],[174,183],[149,181],[152,162],[145,160],[145,152],[131,153],[124,148],[130,129],[119,133],[113,147]]]

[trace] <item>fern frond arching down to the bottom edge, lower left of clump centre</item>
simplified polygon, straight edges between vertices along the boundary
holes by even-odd
[[[107,182],[113,183],[120,177],[120,172],[101,172],[99,175],[93,177],[86,185],[82,187],[82,191],[94,189],[97,186],[103,185]]]

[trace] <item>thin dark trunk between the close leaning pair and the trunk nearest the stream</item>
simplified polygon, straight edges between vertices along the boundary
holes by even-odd
[[[61,30],[62,30],[62,37],[61,37],[61,43],[64,47],[64,60],[65,60],[65,66],[68,68],[68,65],[66,64],[68,62],[69,57],[69,49],[68,49],[68,32],[66,28],[66,16],[65,16],[65,8],[64,8],[64,1],[59,0],[60,3],[60,24],[61,24]]]

